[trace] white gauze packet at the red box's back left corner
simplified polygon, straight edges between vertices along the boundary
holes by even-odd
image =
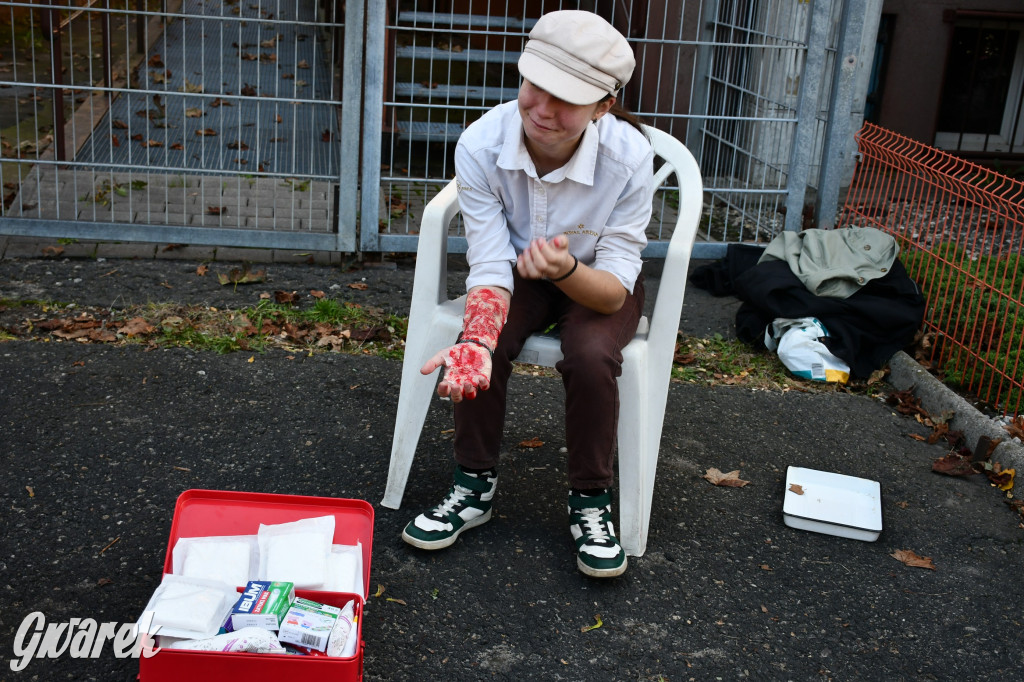
[[[259,570],[256,536],[179,538],[172,553],[175,576],[220,581],[243,587]]]

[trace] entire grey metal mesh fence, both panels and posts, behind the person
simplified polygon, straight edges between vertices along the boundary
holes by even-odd
[[[622,103],[701,164],[694,254],[716,257],[802,225],[842,156],[840,19],[870,1],[0,0],[0,229],[355,250],[358,224],[362,250],[413,251],[459,134],[516,97],[537,17],[584,9],[634,47]]]

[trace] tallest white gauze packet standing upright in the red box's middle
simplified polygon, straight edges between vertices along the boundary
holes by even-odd
[[[260,524],[259,580],[293,583],[296,589],[319,590],[327,581],[328,555],[334,540],[334,516],[290,523]]]

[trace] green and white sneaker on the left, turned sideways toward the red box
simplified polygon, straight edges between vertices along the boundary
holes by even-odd
[[[401,539],[420,549],[443,549],[455,543],[468,528],[490,520],[490,501],[498,486],[498,474],[485,471],[469,473],[455,467],[455,482],[444,501],[410,521]]]

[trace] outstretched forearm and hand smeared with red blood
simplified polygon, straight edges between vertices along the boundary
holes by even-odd
[[[476,397],[490,386],[490,356],[508,316],[511,295],[500,287],[474,287],[466,297],[460,340],[439,351],[420,370],[430,374],[444,367],[437,394],[455,402]]]

